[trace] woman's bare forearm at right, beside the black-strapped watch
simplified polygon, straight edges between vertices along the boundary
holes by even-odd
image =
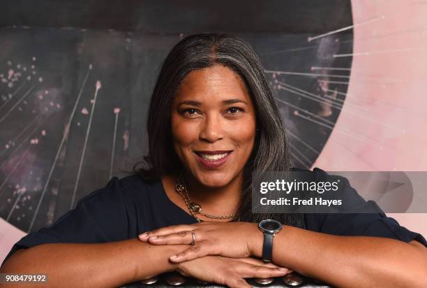
[[[255,242],[253,254],[261,257],[261,233]],[[284,226],[274,237],[273,261],[338,287],[425,287],[423,250],[389,238],[334,236]]]

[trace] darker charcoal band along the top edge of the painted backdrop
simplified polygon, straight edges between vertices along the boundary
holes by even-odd
[[[0,26],[77,27],[153,34],[323,33],[352,24],[347,0],[6,0]]]

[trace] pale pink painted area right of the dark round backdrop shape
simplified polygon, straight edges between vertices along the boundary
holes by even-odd
[[[421,1],[353,0],[354,56],[344,110],[313,167],[327,171],[427,171],[427,6]],[[386,52],[394,50],[394,52]],[[368,110],[351,106],[360,103]],[[340,133],[350,130],[355,140]],[[427,214],[393,214],[427,236]]]

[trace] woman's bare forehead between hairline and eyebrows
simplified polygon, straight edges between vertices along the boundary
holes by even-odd
[[[179,85],[175,98],[199,101],[236,98],[250,101],[250,93],[237,73],[228,67],[215,65],[188,73]]]

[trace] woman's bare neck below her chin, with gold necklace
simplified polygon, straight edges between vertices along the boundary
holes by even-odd
[[[237,212],[241,200],[243,172],[222,187],[202,185],[191,173],[184,173],[190,200],[199,203],[202,211],[214,215],[232,215]]]

